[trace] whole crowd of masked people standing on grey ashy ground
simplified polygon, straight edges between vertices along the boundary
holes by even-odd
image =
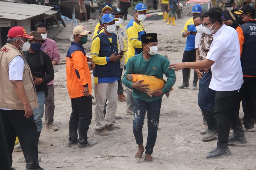
[[[80,18],[86,13],[83,3],[80,2]],[[160,4],[162,10],[170,11],[169,15],[168,11],[163,13],[163,21],[169,19],[167,24],[175,26],[179,1],[162,0]],[[169,94],[176,81],[175,71],[180,69],[183,83],[178,88],[189,87],[190,69],[195,69],[192,90],[197,89],[199,79],[198,105],[203,125],[207,126],[200,131],[201,140],[209,141],[218,136],[216,149],[206,158],[231,154],[228,144],[247,143],[244,130],[255,132],[255,10],[250,5],[237,8],[233,0],[226,0],[226,7],[224,11],[211,7],[202,13],[201,6],[194,5],[193,18],[187,20],[181,31],[181,36],[187,37],[182,63],[176,64],[170,64],[165,56],[157,53],[157,33],[145,32],[142,22],[148,10],[144,3],[135,6],[134,16],[125,29],[122,23],[127,12],[112,9],[110,1],[106,1],[94,30],[90,56],[86,55],[83,44],[92,32],[84,26],[76,26],[74,41],[66,55],[67,89],[72,108],[68,146],[86,148],[97,144],[87,136],[93,117],[94,96],[94,134],[99,136],[108,136],[111,131],[120,129],[114,124],[115,119],[122,119],[116,115],[117,103],[127,102],[126,114],[133,115],[132,130],[138,145],[135,156],[140,159],[145,151],[145,161],[151,162],[162,96]],[[84,16],[89,19],[88,15]],[[0,160],[3,169],[12,169],[11,155],[17,143],[16,147],[24,153],[26,169],[43,169],[38,161],[38,141],[44,106],[46,129],[58,130],[54,125],[53,65],[59,64],[60,55],[57,43],[47,38],[47,32],[44,23],[38,23],[35,31],[28,34],[22,27],[13,27],[8,32],[6,45],[0,49],[0,140],[3,144]],[[165,74],[167,81],[150,97],[146,94],[148,84],[142,84],[143,80],[131,82],[128,74],[161,79]],[[128,87],[127,97],[123,84]],[[244,128],[239,119],[241,101]],[[144,148],[142,126],[146,112],[148,134]],[[231,136],[230,129],[233,131]]]

